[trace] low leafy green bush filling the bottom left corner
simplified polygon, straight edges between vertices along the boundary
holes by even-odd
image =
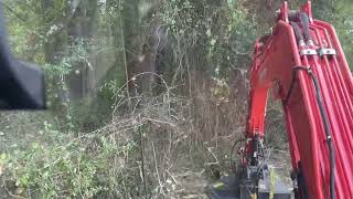
[[[122,191],[132,188],[125,186],[135,178],[133,169],[126,165],[133,142],[104,132],[74,138],[49,123],[44,130],[45,143],[34,142],[25,150],[0,156],[6,171],[2,179],[10,190],[13,187],[18,195],[40,198],[92,198],[97,193],[124,198]]]

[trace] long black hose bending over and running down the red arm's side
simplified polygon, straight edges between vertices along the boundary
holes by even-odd
[[[307,71],[309,76],[311,77],[314,88],[315,88],[315,95],[317,95],[317,103],[320,109],[320,116],[322,118],[323,122],[323,128],[324,128],[324,133],[327,136],[327,143],[328,143],[328,147],[329,147],[329,154],[330,154],[330,199],[334,199],[335,198],[335,189],[334,189],[334,168],[335,168],[335,154],[334,154],[334,149],[333,149],[333,143],[332,143],[332,136],[331,136],[331,130],[330,130],[330,125],[329,125],[329,118],[328,115],[325,113],[325,109],[323,107],[323,103],[322,103],[322,96],[321,96],[321,90],[319,86],[319,81],[317,78],[317,76],[312,73],[311,69],[309,67],[304,67],[304,66],[296,66],[293,67],[293,77],[292,77],[292,82],[290,85],[290,90],[287,93],[287,96],[284,101],[285,105],[288,103],[288,100],[292,93],[292,88],[293,88],[293,84],[295,84],[295,80],[296,80],[296,72],[299,70],[303,70]]]

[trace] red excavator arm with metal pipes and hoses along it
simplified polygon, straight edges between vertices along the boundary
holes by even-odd
[[[353,198],[353,78],[332,25],[284,3],[257,40],[243,167],[257,166],[269,90],[282,102],[298,198]]]

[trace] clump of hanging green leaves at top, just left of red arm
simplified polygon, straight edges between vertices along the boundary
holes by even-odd
[[[256,23],[242,1],[173,0],[167,1],[162,10],[157,18],[179,41],[174,49],[180,49],[176,53],[181,57],[184,51],[197,57],[195,70],[222,78],[227,77],[229,65],[243,67],[249,61]]]

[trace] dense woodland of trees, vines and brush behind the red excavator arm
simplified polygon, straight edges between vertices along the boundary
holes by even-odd
[[[280,0],[1,3],[13,53],[45,72],[49,106],[0,114],[2,196],[206,198],[229,172],[253,44]],[[314,0],[313,11],[334,24],[352,63],[353,4]],[[267,118],[266,144],[289,165],[279,103]]]

